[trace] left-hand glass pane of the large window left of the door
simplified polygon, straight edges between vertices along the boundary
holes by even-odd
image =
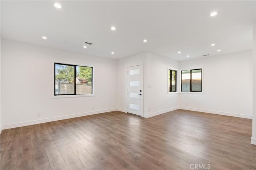
[[[55,95],[74,94],[74,72],[74,66],[55,64]]]

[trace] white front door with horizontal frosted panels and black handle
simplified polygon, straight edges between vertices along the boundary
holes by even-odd
[[[127,112],[143,114],[143,66],[127,67]]]

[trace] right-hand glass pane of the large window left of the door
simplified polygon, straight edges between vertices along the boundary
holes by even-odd
[[[76,66],[76,94],[92,94],[92,67]]]

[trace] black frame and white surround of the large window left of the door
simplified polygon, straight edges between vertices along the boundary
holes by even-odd
[[[76,82],[76,66],[82,66],[82,67],[91,67],[92,68],[92,94],[76,94],[76,84],[74,84],[74,94],[55,94],[55,64],[61,64],[61,65],[67,65],[67,66],[74,66],[74,82]],[[52,72],[53,72],[53,76],[52,76],[52,98],[73,98],[73,97],[89,97],[89,96],[95,96],[94,94],[94,72],[95,72],[95,67],[91,66],[91,65],[87,65],[87,66],[83,66],[81,64],[70,64],[70,63],[66,63],[66,62],[61,62],[61,61],[53,61],[52,62]]]

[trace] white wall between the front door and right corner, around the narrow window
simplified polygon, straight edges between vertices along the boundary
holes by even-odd
[[[179,62],[152,53],[147,53],[146,63],[147,104],[144,117],[151,117],[178,109],[179,94],[168,94],[168,68],[178,70]],[[177,78],[177,90],[179,90],[180,79],[178,75]]]

